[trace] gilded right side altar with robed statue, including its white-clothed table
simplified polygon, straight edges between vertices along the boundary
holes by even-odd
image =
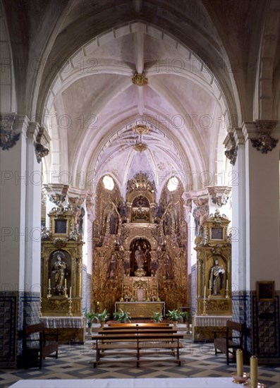
[[[230,221],[219,210],[202,224],[195,239],[197,251],[197,313],[194,339],[212,337],[214,329],[231,319],[231,236]],[[216,322],[216,323],[215,323]],[[218,325],[219,322],[219,325]],[[223,322],[223,325],[221,325]]]

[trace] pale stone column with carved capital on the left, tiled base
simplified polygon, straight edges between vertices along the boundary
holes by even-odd
[[[39,320],[43,128],[27,116],[1,115],[1,367],[16,367],[23,324]],[[4,341],[5,339],[5,341]]]

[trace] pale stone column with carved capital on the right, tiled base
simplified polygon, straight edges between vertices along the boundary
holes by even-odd
[[[275,281],[278,293],[280,289],[279,129],[276,121],[256,121],[234,131],[238,157],[233,171],[238,185],[233,186],[233,320],[245,322],[250,329],[249,353],[255,352],[261,329],[256,283]],[[276,330],[268,325],[264,337],[271,337],[269,343],[274,342]]]

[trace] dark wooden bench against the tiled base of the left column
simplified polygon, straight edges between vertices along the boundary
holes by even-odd
[[[35,338],[37,337],[37,338]],[[59,334],[46,334],[44,323],[23,327],[23,366],[37,366],[42,368],[42,359],[55,352],[58,358]]]

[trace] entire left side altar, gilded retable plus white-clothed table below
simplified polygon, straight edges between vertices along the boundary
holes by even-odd
[[[83,341],[83,240],[75,224],[77,210],[59,204],[48,216],[50,227],[42,230],[41,320],[50,331],[61,328],[62,342]]]

